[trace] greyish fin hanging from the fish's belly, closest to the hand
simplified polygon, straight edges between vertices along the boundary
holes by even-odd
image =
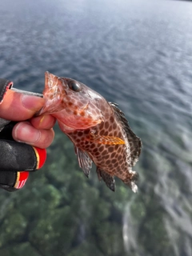
[[[86,174],[86,177],[89,178],[90,169],[92,167],[92,160],[90,157],[86,154],[86,152],[83,152],[78,147],[74,147],[75,154],[78,156],[78,164],[82,168],[84,174]]]

